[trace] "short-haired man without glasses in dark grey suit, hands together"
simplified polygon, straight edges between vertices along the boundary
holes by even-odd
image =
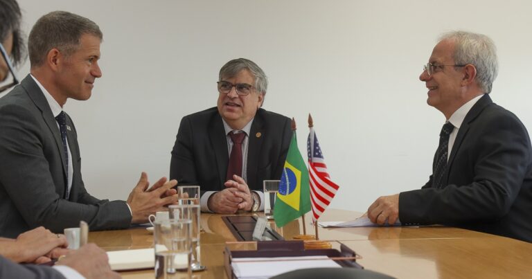
[[[41,17],[28,39],[30,75],[0,99],[0,236],[37,226],[53,232],[79,225],[91,230],[144,223],[177,201],[177,181],[148,189],[141,179],[127,201],[89,195],[81,177],[80,148],[67,98],[87,100],[96,78],[102,33],[93,21],[69,12]]]

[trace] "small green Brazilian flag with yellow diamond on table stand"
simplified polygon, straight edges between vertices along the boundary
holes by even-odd
[[[279,228],[310,211],[308,185],[308,170],[297,147],[294,130],[274,207],[275,224]]]

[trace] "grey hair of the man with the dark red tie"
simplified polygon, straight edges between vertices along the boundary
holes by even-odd
[[[238,58],[227,62],[224,66],[222,66],[222,69],[220,69],[219,78],[220,80],[222,80],[222,78],[233,78],[242,70],[248,70],[251,72],[251,75],[253,75],[255,78],[254,87],[257,89],[257,91],[266,94],[266,90],[268,88],[268,78],[266,77],[263,69],[260,69],[260,67],[251,60]]]

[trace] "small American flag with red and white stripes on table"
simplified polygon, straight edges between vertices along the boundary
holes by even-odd
[[[307,140],[308,174],[310,180],[310,204],[312,206],[312,219],[316,221],[325,211],[330,201],[336,195],[339,186],[330,181],[327,165],[323,160],[323,153],[319,147],[318,138],[314,129],[310,127]]]

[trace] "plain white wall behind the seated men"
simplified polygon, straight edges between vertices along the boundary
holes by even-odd
[[[85,184],[100,198],[126,199],[143,170],[151,181],[168,175],[179,120],[215,105],[218,71],[236,57],[267,73],[264,107],[296,118],[301,150],[312,113],[341,186],[332,208],[364,211],[380,195],[427,181],[445,119],[426,105],[418,75],[445,31],[495,40],[500,71],[491,96],[532,127],[529,1],[19,3],[27,33],[52,10],[89,17],[103,30],[103,78],[90,100],[65,106]]]

